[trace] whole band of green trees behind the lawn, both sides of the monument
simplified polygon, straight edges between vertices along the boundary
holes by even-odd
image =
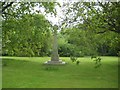
[[[2,55],[50,56],[52,23],[64,13],[58,32],[60,56],[118,55],[120,2],[2,2]],[[37,9],[35,9],[37,7]],[[44,13],[41,10],[44,10]]]

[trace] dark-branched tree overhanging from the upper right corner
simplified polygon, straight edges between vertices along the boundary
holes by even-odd
[[[67,23],[64,25],[66,25],[66,27],[70,27],[74,31],[73,26],[75,26],[78,32],[81,30],[84,30],[86,33],[89,32],[88,36],[89,34],[93,36],[96,34],[96,39],[100,39],[99,36],[102,38],[109,37],[111,40],[104,38],[100,41],[102,43],[101,46],[103,46],[101,49],[110,49],[110,43],[112,44],[116,41],[114,47],[116,47],[115,53],[117,54],[120,50],[120,48],[118,48],[120,43],[118,39],[120,33],[120,2],[72,2],[64,4],[64,7],[67,7],[66,10],[64,10],[66,14],[64,23]],[[74,40],[76,41],[77,39]],[[106,42],[104,42],[105,40]],[[107,42],[109,42],[109,45]],[[100,43],[98,42],[98,44]]]

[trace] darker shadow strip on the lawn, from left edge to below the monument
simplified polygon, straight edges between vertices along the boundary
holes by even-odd
[[[2,59],[2,66],[3,67],[22,67],[21,69],[29,69],[29,67],[34,67],[33,69],[41,69],[43,71],[58,71],[60,66],[62,65],[45,65],[40,62],[33,62],[29,60],[18,60],[18,59],[9,59],[3,58]],[[23,68],[24,67],[24,68]]]

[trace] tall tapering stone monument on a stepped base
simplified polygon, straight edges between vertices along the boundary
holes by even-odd
[[[62,60],[59,60],[58,55],[58,44],[57,44],[57,26],[53,29],[53,47],[52,47],[52,55],[51,60],[46,61],[45,64],[65,64]]]

